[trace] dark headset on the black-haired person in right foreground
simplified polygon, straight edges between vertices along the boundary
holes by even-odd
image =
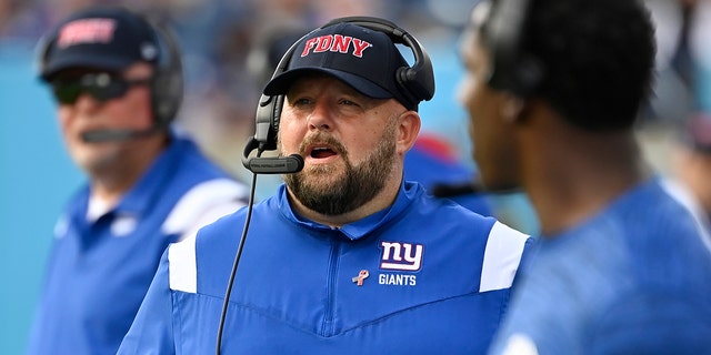
[[[484,42],[491,53],[489,85],[521,98],[533,94],[544,77],[542,62],[523,50],[531,2],[482,0],[478,4],[491,7],[483,23]]]

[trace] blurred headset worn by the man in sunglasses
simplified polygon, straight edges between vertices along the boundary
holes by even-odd
[[[166,24],[149,19],[146,16],[131,12],[123,8],[120,11],[129,12],[132,17],[143,21],[151,30],[154,44],[158,47],[158,61],[151,78],[151,110],[153,126],[149,130],[102,130],[87,132],[83,140],[90,142],[121,141],[164,131],[176,118],[183,99],[183,72],[180,47],[173,31]],[[38,72],[43,73],[51,58],[52,44],[58,40],[58,32],[51,32],[42,38],[39,44]]]

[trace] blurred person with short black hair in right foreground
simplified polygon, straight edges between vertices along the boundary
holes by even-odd
[[[541,229],[490,353],[709,354],[710,251],[634,135],[643,3],[482,1],[461,55],[482,184],[523,187]]]

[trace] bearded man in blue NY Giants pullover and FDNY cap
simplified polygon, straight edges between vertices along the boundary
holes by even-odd
[[[242,209],[169,246],[119,354],[489,346],[531,240],[403,181],[431,65],[411,44],[420,60],[409,67],[393,43],[404,31],[367,19],[337,19],[287,52],[264,98],[283,95],[274,145],[303,169],[251,215]]]

